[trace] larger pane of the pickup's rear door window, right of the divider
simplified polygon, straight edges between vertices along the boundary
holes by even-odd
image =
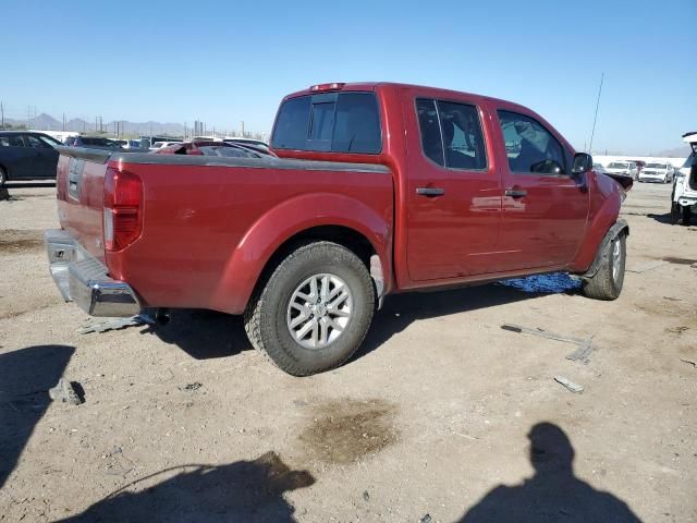
[[[451,101],[438,102],[445,166],[451,169],[486,169],[487,157],[477,108]]]

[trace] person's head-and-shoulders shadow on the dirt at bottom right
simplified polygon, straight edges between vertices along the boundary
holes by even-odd
[[[627,504],[574,476],[574,449],[554,424],[539,423],[528,434],[535,475],[523,485],[500,485],[461,523],[640,522]]]

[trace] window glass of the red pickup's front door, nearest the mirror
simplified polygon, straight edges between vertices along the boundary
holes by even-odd
[[[537,120],[510,111],[498,111],[509,167],[514,172],[564,174],[561,144]]]

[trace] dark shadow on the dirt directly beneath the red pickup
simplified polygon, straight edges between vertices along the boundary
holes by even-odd
[[[511,283],[508,284],[492,283],[450,291],[390,296],[386,300],[382,309],[376,314],[366,340],[352,361],[372,352],[416,320],[530,300],[554,292],[573,292],[575,285],[563,279],[560,283],[557,276],[551,287],[541,287],[541,292],[538,292],[536,284],[540,281],[535,278],[546,277],[510,280]],[[253,350],[244,331],[242,316],[230,316],[213,311],[173,311],[168,325],[147,327],[142,332],[154,333],[163,342],[175,344],[196,360],[233,356],[243,351]]]

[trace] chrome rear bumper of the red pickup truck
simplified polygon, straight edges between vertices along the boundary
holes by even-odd
[[[107,267],[85,252],[65,231],[44,234],[51,277],[63,300],[75,302],[91,316],[130,317],[140,312],[136,293],[109,278]]]

